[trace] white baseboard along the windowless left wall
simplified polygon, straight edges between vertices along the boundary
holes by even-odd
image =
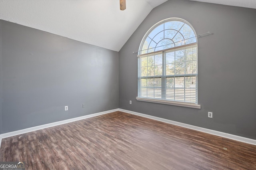
[[[2,138],[8,138],[8,137],[16,136],[16,135],[19,135],[19,134],[24,134],[24,133],[32,132],[32,131],[35,131],[35,130],[40,130],[40,129],[43,129],[43,128],[54,127],[54,126],[62,125],[62,124],[65,124],[65,123],[70,123],[70,122],[79,121],[79,120],[82,120],[82,119],[87,119],[87,118],[90,118],[90,117],[95,117],[95,116],[104,115],[104,114],[107,114],[107,113],[112,113],[112,112],[115,112],[115,111],[118,111],[118,109],[113,109],[113,110],[110,110],[110,111],[104,111],[104,112],[100,112],[100,113],[94,113],[94,114],[91,114],[91,115],[76,117],[76,118],[67,119],[67,120],[64,120],[64,121],[58,121],[58,122],[54,122],[54,123],[49,123],[49,124],[45,124],[45,125],[40,125],[40,126],[36,126],[36,127],[25,128],[25,129],[13,131],[13,132],[3,133],[3,134],[0,134],[0,140],[2,140]],[[1,143],[0,143],[0,145],[1,145]]]

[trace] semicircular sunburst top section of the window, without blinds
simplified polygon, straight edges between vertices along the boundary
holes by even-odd
[[[190,23],[180,18],[168,18],[148,30],[140,43],[138,55],[196,42],[196,32]]]

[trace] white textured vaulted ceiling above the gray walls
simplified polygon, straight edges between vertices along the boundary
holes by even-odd
[[[119,51],[150,11],[167,0],[0,0],[0,19]],[[195,0],[256,8],[256,0]]]

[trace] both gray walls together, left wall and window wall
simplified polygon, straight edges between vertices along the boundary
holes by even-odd
[[[198,39],[202,109],[135,99],[137,57],[132,51],[138,51],[152,25],[170,17],[187,20],[197,34],[214,33]],[[255,18],[255,9],[169,0],[150,12],[119,59],[115,51],[0,20],[0,134],[119,106],[256,139]]]

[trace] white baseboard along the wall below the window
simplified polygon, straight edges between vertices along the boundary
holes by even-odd
[[[169,123],[169,124],[177,125],[177,126],[180,126],[180,127],[190,128],[190,129],[197,130],[197,131],[200,131],[200,132],[205,132],[205,133],[213,134],[213,135],[216,135],[216,136],[221,136],[221,137],[224,137],[224,138],[237,140],[239,142],[244,142],[244,143],[256,145],[256,140],[254,140],[254,139],[245,138],[245,137],[237,136],[237,135],[234,135],[234,134],[219,132],[219,131],[211,130],[211,129],[207,129],[207,128],[196,127],[196,126],[193,126],[193,125],[188,125],[188,124],[185,124],[185,123],[171,121],[171,120],[163,119],[163,118],[160,118],[160,117],[154,117],[154,116],[150,116],[150,115],[145,115],[143,113],[137,113],[137,112],[134,112],[134,111],[128,111],[128,110],[124,110],[124,109],[118,109],[118,110],[122,111],[122,112],[130,113],[130,114],[133,114],[133,115],[141,116],[141,117],[154,119],[156,121]]]

